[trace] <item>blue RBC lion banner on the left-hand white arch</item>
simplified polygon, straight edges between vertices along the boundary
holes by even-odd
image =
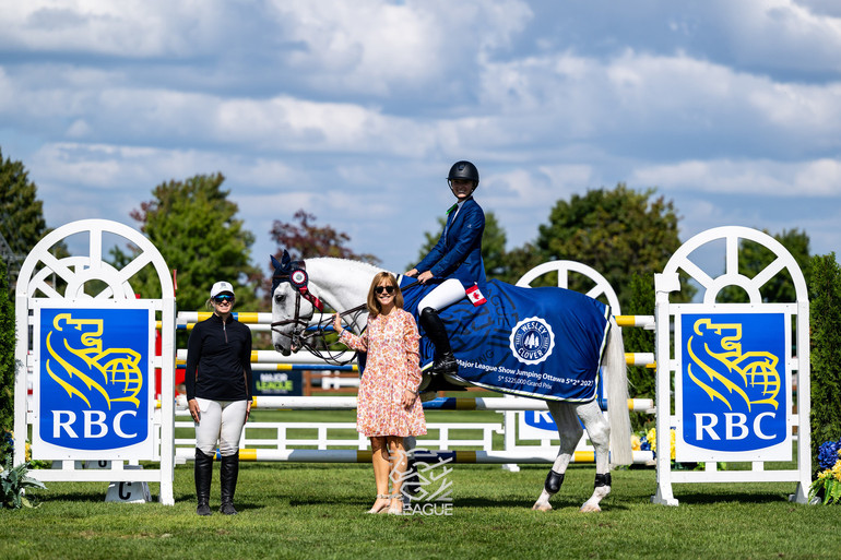
[[[150,311],[43,308],[39,324],[36,440],[46,458],[150,440]]]

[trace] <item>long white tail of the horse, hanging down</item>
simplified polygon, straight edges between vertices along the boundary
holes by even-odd
[[[625,343],[621,329],[611,317],[604,369],[607,390],[607,416],[611,420],[611,464],[629,465],[633,462],[630,448],[630,414],[628,410],[628,371],[625,362]]]

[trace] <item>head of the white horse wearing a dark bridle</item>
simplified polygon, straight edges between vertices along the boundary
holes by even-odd
[[[304,331],[321,302],[308,289],[308,277],[304,261],[293,261],[283,251],[281,261],[272,257],[272,344],[288,356],[303,346]]]

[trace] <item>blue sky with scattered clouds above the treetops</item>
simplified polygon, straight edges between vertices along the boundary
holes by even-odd
[[[559,199],[656,188],[680,238],[841,251],[836,0],[0,0],[0,148],[47,224],[221,171],[268,265],[299,210],[401,272],[476,164],[509,249]]]

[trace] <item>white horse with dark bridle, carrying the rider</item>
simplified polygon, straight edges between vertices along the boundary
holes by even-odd
[[[272,343],[284,356],[306,345],[304,331],[321,301],[340,313],[358,308],[367,300],[374,276],[382,270],[367,263],[334,258],[307,259],[306,262],[292,263],[291,267],[286,254],[283,267],[274,258],[272,260],[277,267],[272,290]],[[365,312],[346,318],[346,323],[357,334],[366,322]],[[601,511],[600,502],[611,493],[611,465],[631,462],[625,349],[621,331],[613,317],[603,366],[606,370],[607,407],[612,413],[609,426],[596,400],[585,403],[546,401],[558,427],[560,449],[533,510],[552,510],[549,499],[560,489],[564,474],[583,434],[579,418],[595,449],[596,472],[593,493],[581,507],[582,512]],[[616,436],[613,445],[611,432]]]

